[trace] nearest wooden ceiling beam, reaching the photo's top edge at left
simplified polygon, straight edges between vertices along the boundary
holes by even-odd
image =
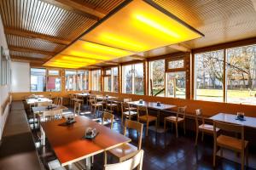
[[[94,8],[89,3],[79,3],[74,2],[73,0],[41,0],[45,3],[55,5],[58,8],[63,8],[68,11],[72,11],[76,14],[81,14],[91,20],[101,20],[106,12],[102,12],[99,9]]]

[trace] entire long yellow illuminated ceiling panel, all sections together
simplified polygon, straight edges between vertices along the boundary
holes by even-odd
[[[81,68],[203,37],[150,0],[126,0],[44,65]]]

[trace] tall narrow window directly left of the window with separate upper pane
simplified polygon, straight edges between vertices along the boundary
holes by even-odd
[[[152,82],[152,89],[150,83]],[[165,59],[149,63],[149,94],[165,96]]]

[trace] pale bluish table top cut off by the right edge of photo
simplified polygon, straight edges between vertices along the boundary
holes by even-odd
[[[240,121],[236,120],[236,115],[232,115],[229,113],[218,113],[217,115],[210,117],[210,119],[212,119],[213,121],[229,122],[245,127],[256,128],[256,118],[250,116],[245,116],[245,121]]]

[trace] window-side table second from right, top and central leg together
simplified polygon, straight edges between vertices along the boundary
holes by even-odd
[[[177,107],[177,105],[169,105],[169,104],[163,104],[163,103],[159,103],[159,102],[148,102],[148,101],[144,101],[144,100],[130,101],[127,103],[130,105],[144,106],[149,109],[156,110],[157,111],[158,130],[160,130],[160,128],[159,128],[160,127],[160,111],[165,111],[165,110],[169,110],[169,109],[173,109],[173,108]]]

